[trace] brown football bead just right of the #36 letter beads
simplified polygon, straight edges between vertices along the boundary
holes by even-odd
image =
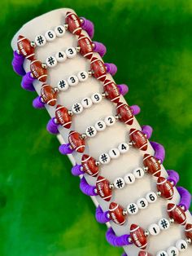
[[[170,183],[170,181],[168,181],[164,177],[159,177],[157,179],[157,190],[161,192],[162,197],[168,200],[172,199],[172,196],[174,194],[172,183]]]

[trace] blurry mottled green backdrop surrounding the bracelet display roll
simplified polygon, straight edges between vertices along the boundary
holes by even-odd
[[[37,15],[72,7],[93,20],[96,41],[107,46],[106,62],[118,66],[129,104],[164,144],[167,169],[192,191],[192,2],[190,0],[1,1],[0,255],[120,255],[105,241],[105,225],[72,177],[71,164],[46,132],[49,117],[32,108],[34,93],[21,90],[11,68],[11,38]]]

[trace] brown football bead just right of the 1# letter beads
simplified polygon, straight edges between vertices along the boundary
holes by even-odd
[[[170,203],[167,206],[167,211],[169,218],[173,218],[175,223],[185,225],[186,215],[181,206]]]

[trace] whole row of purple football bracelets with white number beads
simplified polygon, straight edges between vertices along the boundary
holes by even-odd
[[[46,60],[37,60],[36,49],[53,42],[56,38],[62,38],[66,33],[72,33],[76,38],[76,46],[68,46],[63,51],[58,51],[54,55],[47,56]],[[85,36],[85,33],[88,36]],[[34,108],[45,108],[46,105],[55,108],[55,117],[52,117],[47,124],[47,130],[51,134],[59,134],[59,126],[68,130],[72,127],[72,121],[76,115],[81,114],[86,109],[100,104],[103,100],[111,101],[116,108],[115,115],[103,117],[91,123],[81,133],[78,130],[70,130],[68,133],[68,143],[63,143],[59,147],[59,152],[64,155],[72,154],[74,151],[84,153],[86,143],[89,139],[97,136],[100,131],[110,129],[116,126],[116,122],[121,122],[125,126],[132,126],[134,116],[140,113],[137,105],[129,106],[120,101],[121,95],[128,92],[128,86],[124,84],[116,85],[115,82],[107,78],[107,73],[114,75],[117,71],[115,64],[104,63],[101,58],[97,58],[94,53],[101,57],[106,53],[106,47],[101,42],[92,42],[94,36],[94,25],[85,18],[79,18],[75,13],[68,11],[65,16],[65,23],[46,31],[44,34],[38,34],[33,41],[20,35],[17,38],[18,49],[14,51],[12,61],[15,73],[22,76],[21,85],[25,90],[35,90],[33,82],[38,80],[42,82],[40,95],[33,100]],[[76,58],[76,55],[82,55],[89,61],[89,69],[81,70],[68,78],[60,78],[55,85],[46,84],[49,77],[49,69]],[[25,73],[24,60],[30,61],[30,71]],[[74,102],[70,108],[58,103],[59,93],[64,90],[70,90],[71,86],[81,86],[89,77],[96,78],[103,84],[103,91],[89,94],[86,97]],[[140,249],[138,256],[150,256],[146,251],[150,243],[150,236],[158,236],[160,232],[171,229],[173,225],[183,226],[183,238],[178,239],[174,245],[167,249],[156,252],[156,256],[177,256],[184,252],[192,244],[192,223],[187,221],[185,212],[190,208],[191,195],[185,188],[177,187],[179,175],[174,170],[167,170],[168,177],[162,174],[162,165],[164,162],[164,147],[155,142],[150,142],[152,135],[151,126],[142,126],[141,130],[131,127],[127,134],[126,141],[120,141],[116,148],[109,148],[107,152],[101,152],[98,159],[84,153],[81,156],[81,164],[72,167],[72,174],[80,176],[80,188],[88,196],[98,196],[103,201],[109,202],[108,210],[104,211],[100,205],[96,209],[95,217],[98,223],[115,223],[123,226],[124,223],[131,220],[131,216],[139,214],[140,210],[145,210],[150,205],[158,201],[158,198],[171,201],[174,192],[179,192],[181,199],[178,205],[168,202],[164,210],[164,218],[159,218],[155,223],[151,223],[144,228],[142,225],[130,223],[129,233],[116,236],[116,233],[109,227],[107,230],[107,241],[113,246],[135,245]],[[146,152],[151,145],[154,149],[154,155]],[[124,174],[123,177],[116,175],[116,179],[109,180],[99,174],[104,165],[121,155],[129,154],[130,148],[136,148],[144,152],[142,165],[134,168],[131,172]],[[90,185],[85,179],[85,175],[91,176],[95,180],[94,185]],[[146,192],[145,196],[137,198],[137,201],[129,201],[125,206],[120,205],[114,200],[117,190],[122,190],[127,186],[133,186],[133,183],[141,183],[142,178],[148,175],[155,179],[155,190]],[[167,213],[165,213],[167,212]],[[127,255],[124,253],[124,255]]]

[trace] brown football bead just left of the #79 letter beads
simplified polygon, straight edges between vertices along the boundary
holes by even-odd
[[[68,114],[68,108],[57,105],[55,109],[55,118],[59,125],[69,129],[72,126],[72,116]]]

